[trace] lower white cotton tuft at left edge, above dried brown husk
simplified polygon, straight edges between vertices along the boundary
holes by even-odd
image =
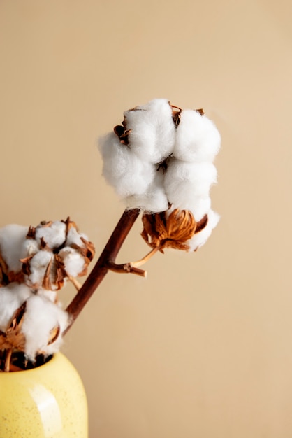
[[[0,330],[6,332],[15,311],[31,296],[26,285],[10,283],[0,288]]]

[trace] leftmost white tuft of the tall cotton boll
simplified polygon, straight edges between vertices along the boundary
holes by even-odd
[[[100,140],[103,155],[103,176],[112,185],[117,195],[129,197],[145,192],[154,178],[155,169],[142,161],[128,146],[119,142],[112,132]]]

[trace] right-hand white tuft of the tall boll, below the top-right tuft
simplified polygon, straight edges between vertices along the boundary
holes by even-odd
[[[210,186],[217,180],[212,163],[171,160],[164,176],[168,201],[178,209],[191,210],[198,199],[209,197]]]

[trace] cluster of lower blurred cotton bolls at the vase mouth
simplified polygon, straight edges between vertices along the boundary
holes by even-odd
[[[59,290],[87,274],[94,246],[75,222],[41,222],[36,227],[0,229],[0,365],[10,367],[13,351],[27,361],[59,351],[70,316]]]

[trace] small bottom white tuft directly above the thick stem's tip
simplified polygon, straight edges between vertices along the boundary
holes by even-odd
[[[156,171],[154,181],[149,185],[143,195],[134,195],[126,197],[126,206],[128,209],[140,209],[147,213],[157,213],[168,209],[168,199],[163,187],[163,174]]]

